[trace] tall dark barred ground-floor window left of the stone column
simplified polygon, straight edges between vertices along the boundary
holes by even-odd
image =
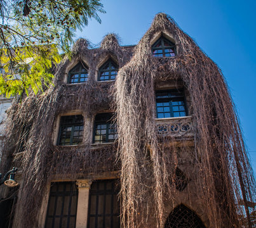
[[[75,182],[51,184],[45,228],[76,227],[77,195]]]

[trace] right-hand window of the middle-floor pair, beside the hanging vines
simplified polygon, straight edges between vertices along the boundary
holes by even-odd
[[[95,117],[93,143],[112,143],[118,137],[112,113],[100,113]]]

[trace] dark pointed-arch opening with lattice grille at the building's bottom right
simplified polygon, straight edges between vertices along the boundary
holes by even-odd
[[[205,228],[196,213],[184,205],[179,205],[170,213],[165,222],[165,228]]]

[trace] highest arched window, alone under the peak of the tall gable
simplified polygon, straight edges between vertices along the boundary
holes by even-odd
[[[153,45],[152,53],[155,57],[175,56],[175,44],[165,37],[161,36]]]

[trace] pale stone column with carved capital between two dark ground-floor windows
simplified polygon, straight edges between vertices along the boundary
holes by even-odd
[[[91,180],[77,180],[76,184],[78,187],[76,228],[86,228]]]

